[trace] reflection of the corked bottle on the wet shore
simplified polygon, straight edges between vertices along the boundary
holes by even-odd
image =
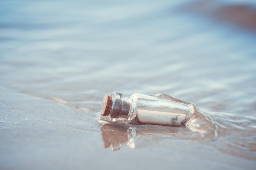
[[[104,148],[111,148],[112,151],[120,150],[121,146],[129,148],[141,148],[157,144],[163,139],[172,139],[176,135],[179,139],[191,139],[191,131],[186,127],[173,129],[167,126],[145,128],[145,126],[126,124],[123,122],[110,122],[101,127],[101,140]],[[182,133],[179,133],[182,132]],[[186,133],[188,132],[188,133]],[[194,135],[195,136],[195,135]]]

